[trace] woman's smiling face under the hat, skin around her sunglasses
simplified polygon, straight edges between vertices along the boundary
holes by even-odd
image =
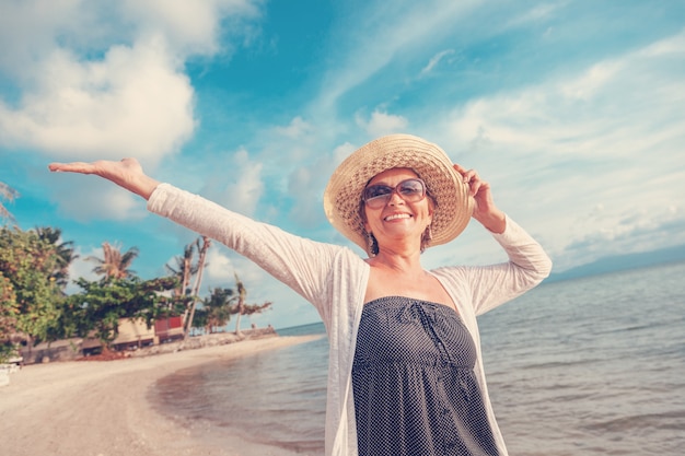
[[[376,174],[367,185],[386,185],[395,188],[403,180],[417,178],[417,174],[409,168],[392,168]],[[365,223],[368,233],[373,233],[379,245],[393,242],[406,242],[416,238],[420,245],[421,235],[432,221],[433,204],[429,197],[419,201],[410,202],[404,199],[397,191],[393,191],[390,199],[378,209],[364,204]]]

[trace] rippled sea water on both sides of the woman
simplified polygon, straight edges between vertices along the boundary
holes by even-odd
[[[511,455],[685,454],[685,264],[543,283],[478,321]],[[151,400],[218,445],[322,455],[324,327],[279,334],[322,338],[179,371]]]

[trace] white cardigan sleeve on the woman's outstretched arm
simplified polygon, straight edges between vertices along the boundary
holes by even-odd
[[[256,222],[170,184],[158,186],[148,210],[224,244],[325,312],[322,296],[341,247]]]

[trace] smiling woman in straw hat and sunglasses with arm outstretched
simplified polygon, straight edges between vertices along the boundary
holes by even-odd
[[[138,162],[51,164],[140,195],[148,209],[252,259],[318,311],[329,340],[326,455],[507,455],[488,398],[476,315],[539,283],[542,247],[489,185],[408,135],[374,140],[336,169],[330,223],[367,250],[301,238],[161,184]],[[509,262],[426,271],[420,254],[473,215]]]

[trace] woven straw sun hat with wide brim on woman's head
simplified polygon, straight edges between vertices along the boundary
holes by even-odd
[[[324,191],[324,210],[330,224],[368,252],[364,223],[359,215],[361,194],[373,176],[394,167],[414,169],[436,200],[430,245],[446,244],[464,231],[474,207],[468,185],[439,145],[410,135],[375,139],[337,167]]]

